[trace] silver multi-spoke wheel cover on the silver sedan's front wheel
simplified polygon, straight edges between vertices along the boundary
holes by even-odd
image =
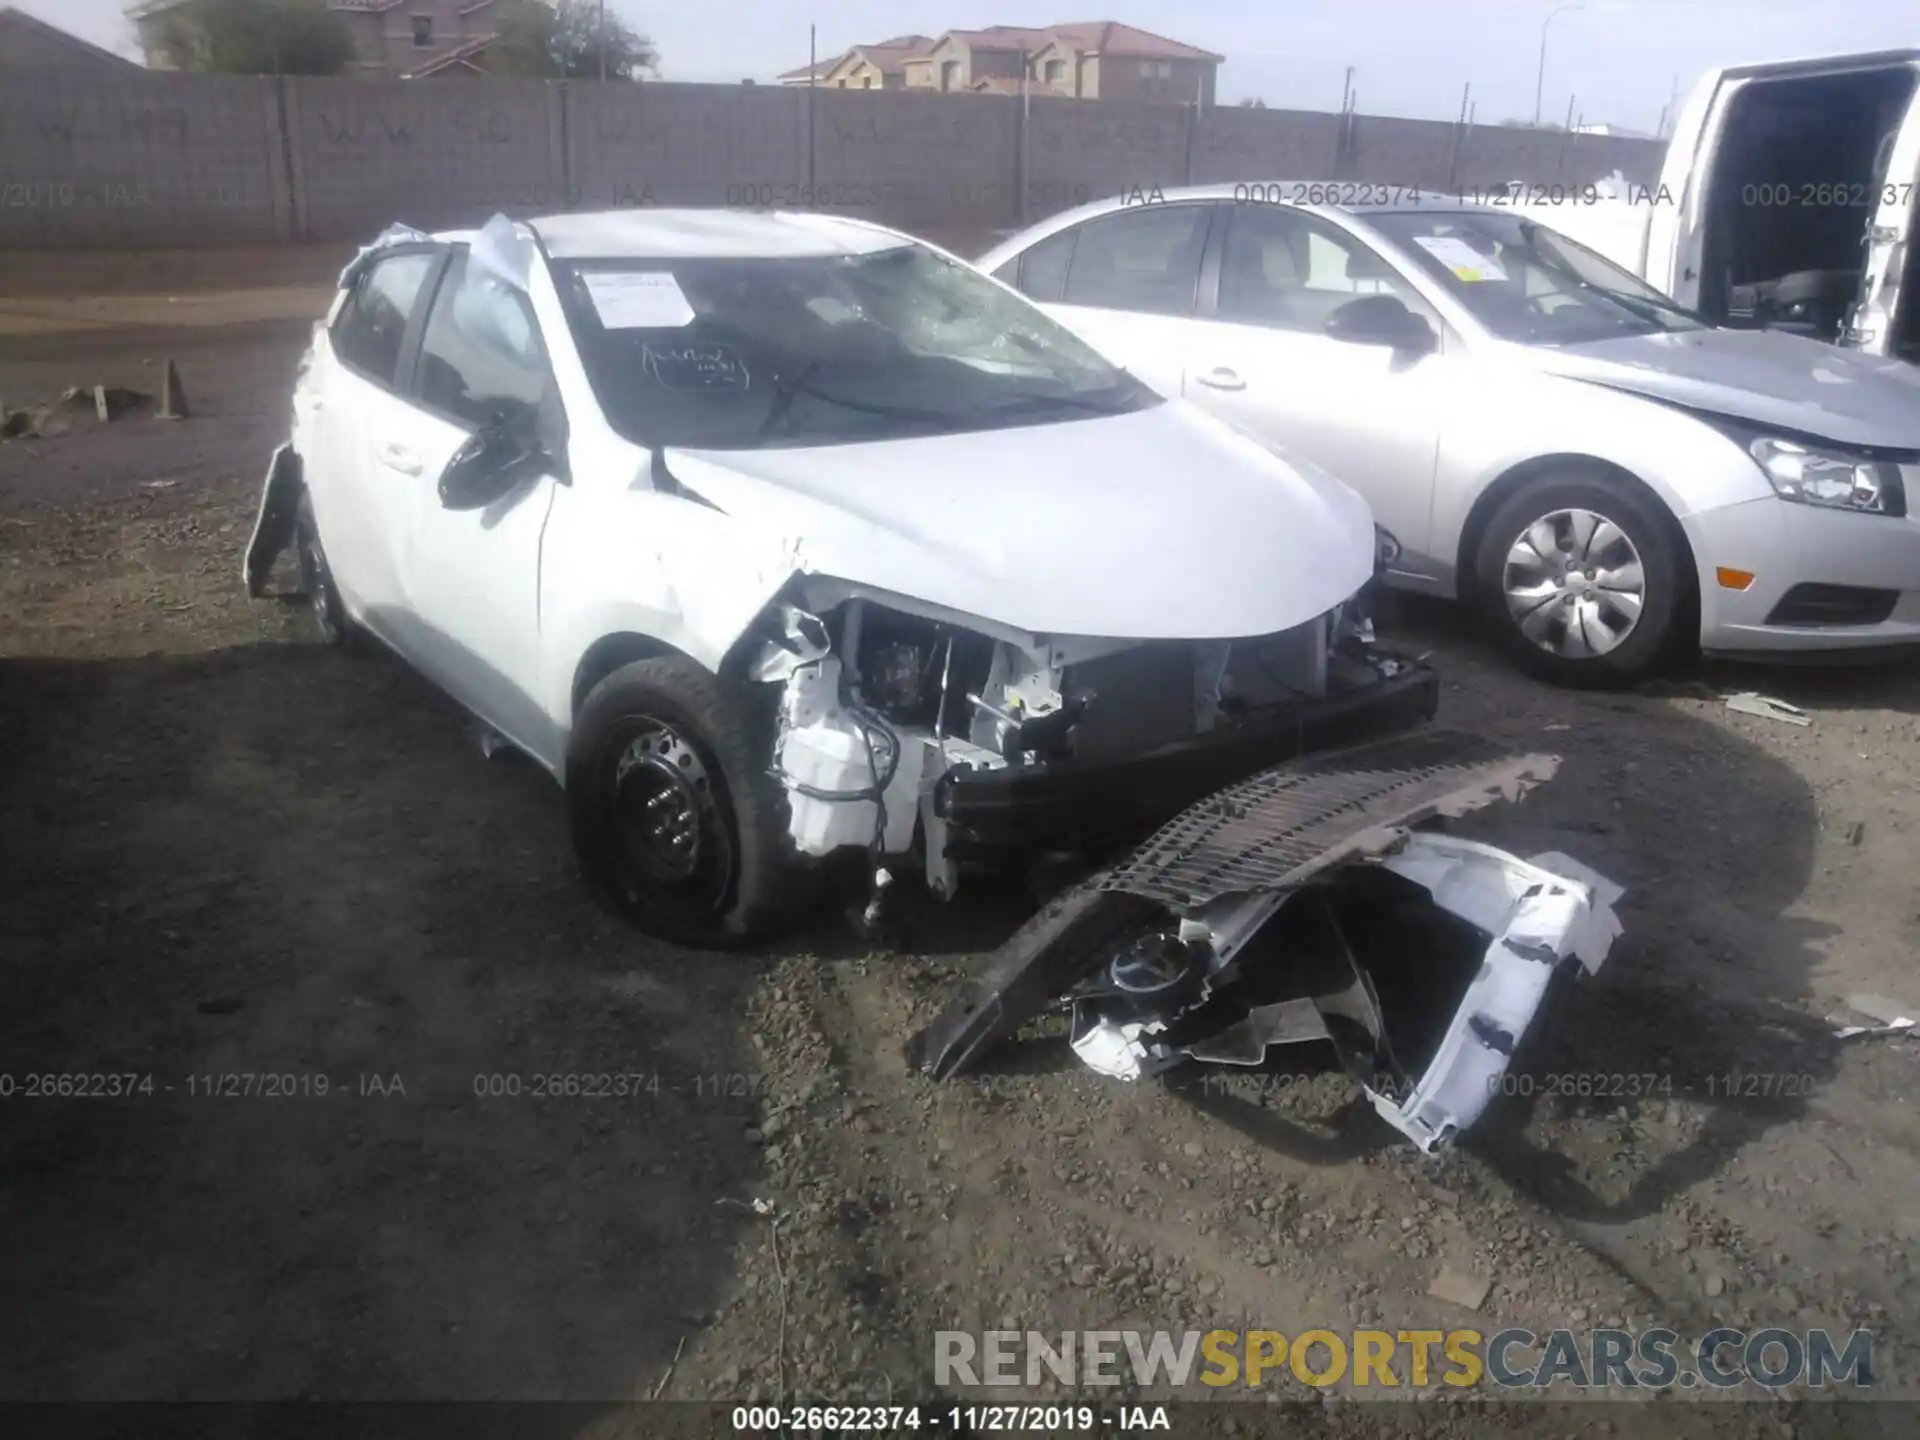
[[[1640,624],[1647,576],[1640,551],[1596,511],[1551,511],[1507,549],[1507,614],[1528,641],[1569,660],[1619,649]]]

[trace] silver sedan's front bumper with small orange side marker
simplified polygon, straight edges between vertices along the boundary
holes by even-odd
[[[1920,503],[1920,495],[1912,497]],[[1866,659],[1920,647],[1920,516],[1763,495],[1690,515],[1709,655]],[[1726,580],[1722,570],[1736,572]]]

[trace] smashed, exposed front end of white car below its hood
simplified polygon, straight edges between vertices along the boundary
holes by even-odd
[[[781,687],[799,854],[864,847],[947,899],[970,866],[1098,860],[1277,760],[1432,718],[1436,676],[1375,643],[1369,595],[1271,636],[1142,641],[803,576],[741,670]]]

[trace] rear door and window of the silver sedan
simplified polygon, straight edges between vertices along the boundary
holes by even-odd
[[[1210,202],[1173,202],[1096,215],[1023,252],[1012,282],[1110,361],[1179,396],[1213,213]]]

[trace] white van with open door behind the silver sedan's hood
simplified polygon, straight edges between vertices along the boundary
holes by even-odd
[[[1515,188],[1716,324],[1920,363],[1920,50],[1728,65],[1688,96],[1657,186],[1622,198]]]

